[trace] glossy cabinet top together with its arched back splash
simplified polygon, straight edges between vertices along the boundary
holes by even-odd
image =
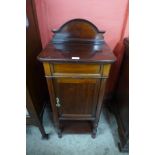
[[[115,56],[104,41],[104,31],[83,19],[71,20],[53,31],[52,41],[37,57],[40,61],[112,63]]]

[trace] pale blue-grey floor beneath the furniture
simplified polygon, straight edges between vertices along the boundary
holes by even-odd
[[[41,139],[37,127],[27,126],[27,155],[128,155],[118,150],[116,120],[107,110],[101,114],[95,139],[90,134],[66,134],[58,138],[52,125],[50,108],[47,107],[43,123],[46,133],[50,133],[48,140]]]

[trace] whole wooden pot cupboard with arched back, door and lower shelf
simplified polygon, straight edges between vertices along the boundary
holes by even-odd
[[[58,135],[80,129],[91,131],[94,138],[115,56],[104,32],[89,21],[71,20],[54,33],[38,60],[44,66]]]

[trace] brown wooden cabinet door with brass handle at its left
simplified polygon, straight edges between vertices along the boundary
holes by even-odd
[[[60,117],[94,117],[100,79],[54,79]]]

